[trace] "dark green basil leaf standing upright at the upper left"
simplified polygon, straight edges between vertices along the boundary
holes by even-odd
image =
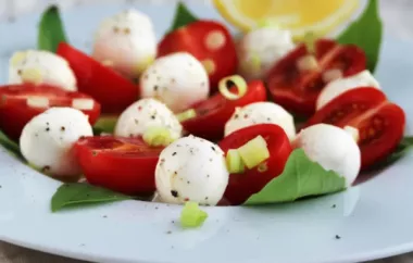
[[[51,5],[40,18],[37,46],[40,50],[55,52],[60,42],[67,42],[59,8]]]

